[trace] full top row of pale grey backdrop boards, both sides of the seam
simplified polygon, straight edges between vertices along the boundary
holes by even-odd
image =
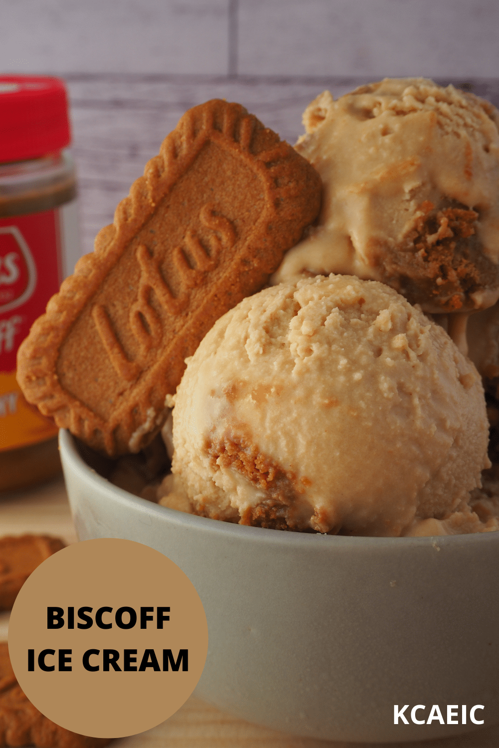
[[[0,68],[499,76],[497,0],[1,0]]]

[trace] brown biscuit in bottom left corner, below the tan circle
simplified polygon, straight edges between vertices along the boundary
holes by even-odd
[[[40,714],[16,681],[7,642],[0,642],[0,748],[102,748],[110,742],[70,732]]]

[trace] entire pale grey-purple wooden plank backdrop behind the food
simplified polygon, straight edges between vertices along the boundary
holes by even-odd
[[[186,108],[242,102],[294,142],[320,91],[384,76],[499,104],[498,0],[0,0],[0,70],[64,77],[82,251]]]

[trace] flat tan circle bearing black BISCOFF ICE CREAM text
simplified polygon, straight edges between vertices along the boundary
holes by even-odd
[[[47,607],[64,608],[64,627],[47,628]],[[67,628],[67,609],[74,608],[74,628]],[[79,619],[81,607],[93,608],[91,628]],[[102,622],[112,628],[99,628],[96,612],[103,612]],[[133,628],[118,628],[115,614],[120,607],[131,607],[137,613]],[[141,607],[153,607],[144,615],[141,628]],[[157,608],[169,607],[162,616],[170,616],[157,628]],[[161,617],[161,616],[160,616]],[[123,613],[122,622],[130,621]],[[130,540],[100,539],[70,545],[49,557],[28,577],[22,586],[10,615],[9,653],[19,685],[28,699],[52,722],[81,735],[93,738],[120,738],[135,735],[171,717],[189,698],[203,672],[208,649],[206,616],[198,593],[186,574],[158,551]],[[34,671],[28,672],[28,649],[34,650]],[[54,649],[46,655],[46,665],[55,665],[52,672],[43,672],[38,656],[43,649]],[[59,672],[60,649],[71,649],[70,672]],[[89,649],[88,662],[99,665],[97,672],[88,672],[82,657]],[[103,671],[104,650],[119,652],[117,666],[109,664]],[[136,649],[136,662],[129,660],[123,669],[124,650]],[[144,650],[153,649],[160,672],[152,666],[139,672]],[[188,670],[179,662],[180,649],[188,651]],[[163,651],[168,672],[163,669]],[[172,668],[171,657],[177,671]],[[108,659],[112,654],[108,655]],[[151,663],[153,657],[144,660]],[[64,663],[61,663],[64,666]]]

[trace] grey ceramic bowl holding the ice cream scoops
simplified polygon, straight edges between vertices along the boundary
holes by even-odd
[[[208,621],[200,698],[249,722],[337,741],[477,729],[426,720],[483,705],[499,722],[499,533],[361,538],[241,527],[111,485],[61,432],[79,539],[156,548],[189,576]],[[408,704],[394,725],[394,705]]]

